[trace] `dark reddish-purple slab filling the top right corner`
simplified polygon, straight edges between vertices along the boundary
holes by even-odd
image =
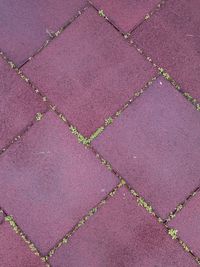
[[[193,97],[200,100],[200,1],[169,0],[133,32],[133,39]]]

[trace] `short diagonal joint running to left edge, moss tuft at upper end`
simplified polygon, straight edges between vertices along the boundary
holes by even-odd
[[[30,128],[32,128],[32,126],[34,126],[35,125],[35,123],[37,123],[37,121],[40,121],[42,118],[43,118],[43,116],[45,116],[46,115],[46,113],[49,111],[49,109],[46,109],[45,111],[43,111],[43,112],[38,112],[38,113],[36,113],[35,114],[35,117],[31,120],[31,122],[29,122],[20,132],[18,132],[18,134],[16,135],[16,136],[14,136],[11,140],[9,140],[8,142],[7,142],[7,144],[4,146],[4,147],[2,147],[1,149],[0,149],[0,156],[4,153],[4,152],[6,152],[6,150],[8,150],[9,149],[9,147],[12,145],[12,144],[14,144],[14,143],[16,143],[19,139],[21,139],[21,137],[23,137],[24,136],[24,134],[26,134],[28,131],[29,131],[29,129]]]

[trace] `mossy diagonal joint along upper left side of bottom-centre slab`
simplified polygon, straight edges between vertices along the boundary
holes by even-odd
[[[94,214],[96,214],[98,210],[102,206],[104,206],[111,197],[114,197],[118,189],[124,186],[124,183],[124,180],[121,179],[120,183],[118,183],[96,206],[90,209],[89,212],[84,215],[82,219],[77,224],[75,224],[74,227],[69,232],[67,232],[67,234],[58,243],[56,243],[52,249],[49,250],[45,257],[46,260],[52,257],[61,246],[67,244],[69,239],[75,234],[75,232],[78,231],[78,229],[82,227]]]

